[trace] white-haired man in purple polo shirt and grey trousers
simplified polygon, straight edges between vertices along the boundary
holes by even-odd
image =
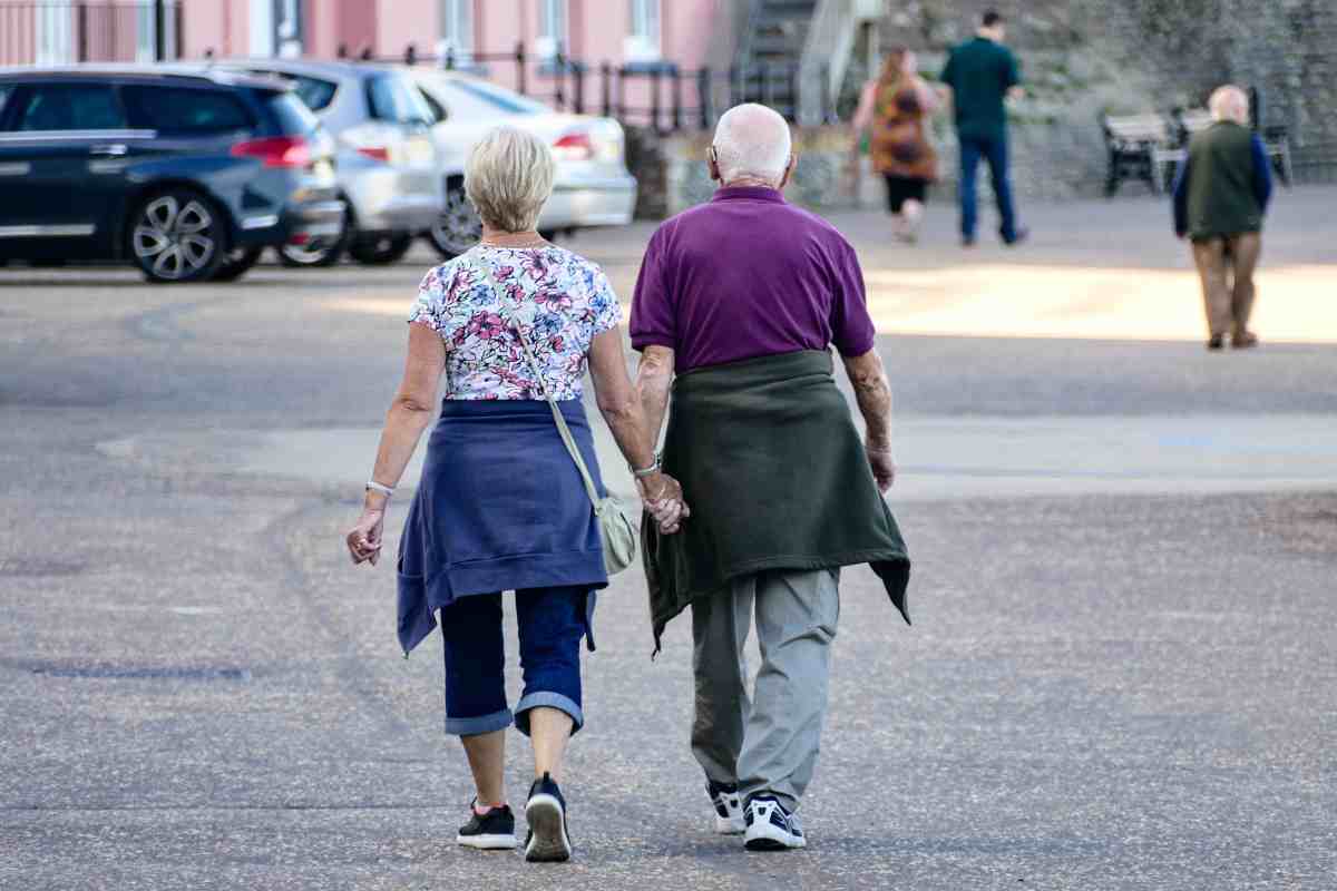
[[[731,108],[709,164],[719,188],[655,231],[631,309],[650,429],[671,389],[663,466],[693,505],[677,536],[643,528],[651,620],[658,651],[664,625],[691,608],[691,749],[715,830],[745,832],[749,850],[800,848],[794,811],[817,763],[840,568],[870,564],[909,621],[909,560],[880,494],[896,474],[892,394],[854,248],[781,195],[794,171],[783,118]],[[749,697],[754,616],[761,669]]]

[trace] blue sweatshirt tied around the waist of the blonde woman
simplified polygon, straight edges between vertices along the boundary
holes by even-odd
[[[558,405],[603,494],[584,406]],[[607,585],[599,522],[548,403],[447,399],[400,540],[405,656],[457,597],[586,586],[592,612]]]

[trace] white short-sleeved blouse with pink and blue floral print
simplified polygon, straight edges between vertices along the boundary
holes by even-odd
[[[479,263],[491,267],[500,293]],[[562,247],[461,254],[427,274],[409,313],[409,322],[445,341],[447,399],[543,398],[512,323],[523,326],[552,398],[579,399],[590,343],[620,321],[608,277]]]

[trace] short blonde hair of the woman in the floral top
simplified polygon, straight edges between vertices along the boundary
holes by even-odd
[[[555,174],[556,162],[545,142],[516,127],[497,127],[469,152],[464,192],[484,223],[523,232],[539,219]]]

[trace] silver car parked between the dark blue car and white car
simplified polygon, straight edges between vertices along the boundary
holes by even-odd
[[[342,251],[393,263],[444,210],[443,159],[432,110],[402,72],[345,61],[243,59],[217,63],[281,77],[317,114],[338,147],[336,172],[349,206],[344,240],[287,246],[289,264],[325,266]]]

